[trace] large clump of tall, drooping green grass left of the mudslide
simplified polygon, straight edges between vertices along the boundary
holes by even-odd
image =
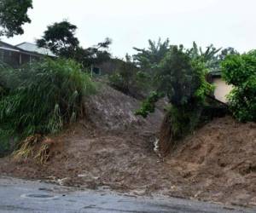
[[[8,90],[0,100],[0,144],[6,148],[11,138],[61,130],[82,115],[84,95],[95,91],[73,60],[42,60],[19,70],[2,67],[0,79]]]

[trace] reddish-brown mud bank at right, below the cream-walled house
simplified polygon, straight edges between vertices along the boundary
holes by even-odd
[[[177,165],[197,198],[256,204],[256,124],[215,119],[167,161]]]

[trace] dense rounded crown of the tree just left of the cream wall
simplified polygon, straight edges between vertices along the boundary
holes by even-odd
[[[201,60],[193,60],[183,46],[172,46],[161,61],[158,72],[159,89],[174,106],[203,102],[212,91],[206,81],[207,68]]]

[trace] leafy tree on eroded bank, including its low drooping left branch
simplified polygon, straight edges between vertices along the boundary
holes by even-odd
[[[207,95],[212,85],[206,80],[207,67],[200,59],[192,59],[183,46],[171,46],[166,57],[160,62],[156,75],[158,87],[137,114],[146,117],[154,112],[154,103],[167,96],[170,107],[160,130],[159,148],[166,154],[184,135],[195,130],[201,122]]]

